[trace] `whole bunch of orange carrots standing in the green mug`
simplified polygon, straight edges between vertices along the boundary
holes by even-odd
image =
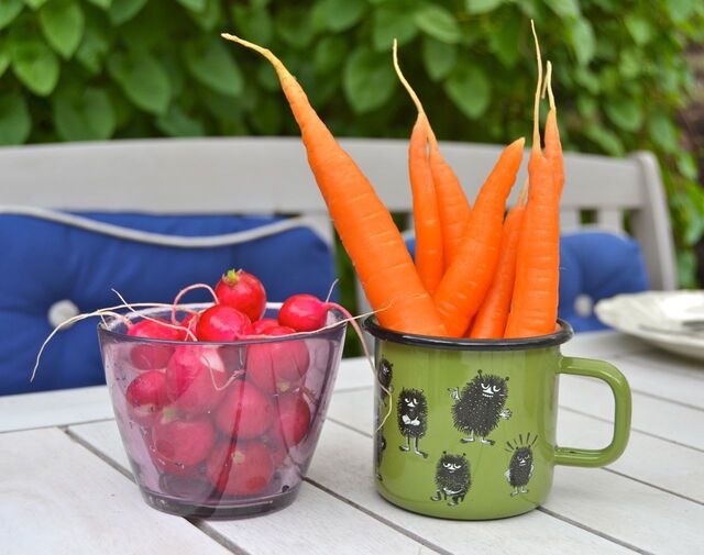
[[[537,37],[539,70],[529,178],[518,204],[506,217],[506,201],[522,160],[524,138],[504,149],[471,208],[440,153],[420,100],[400,71],[394,44],[394,67],[418,110],[409,144],[414,263],[374,188],[337,143],[283,63],[266,48],[230,34],[222,36],[258,52],[276,69],[318,187],[382,325],[421,335],[481,338],[554,331],[558,214],[564,174],[550,63],[544,82],[550,98],[544,153],[540,146],[542,62]]]

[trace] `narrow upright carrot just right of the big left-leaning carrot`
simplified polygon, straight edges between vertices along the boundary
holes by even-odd
[[[408,166],[414,195],[414,221],[416,225],[416,268],[426,290],[432,295],[442,279],[442,230],[438,218],[438,199],[432,185],[428,163],[428,124],[418,114],[410,135]]]

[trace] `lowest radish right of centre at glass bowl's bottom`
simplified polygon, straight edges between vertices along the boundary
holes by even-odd
[[[206,471],[218,491],[230,496],[252,496],[272,481],[274,463],[261,442],[222,442],[208,458]]]

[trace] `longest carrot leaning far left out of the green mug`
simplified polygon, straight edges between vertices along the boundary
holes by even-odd
[[[388,210],[318,118],[300,85],[271,51],[227,33],[222,37],[257,52],[276,69],[308,164],[380,323],[408,333],[446,335]]]

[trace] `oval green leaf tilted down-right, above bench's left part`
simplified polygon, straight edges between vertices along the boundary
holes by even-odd
[[[172,98],[168,75],[150,54],[114,54],[108,69],[112,78],[134,106],[142,110],[162,114]]]

